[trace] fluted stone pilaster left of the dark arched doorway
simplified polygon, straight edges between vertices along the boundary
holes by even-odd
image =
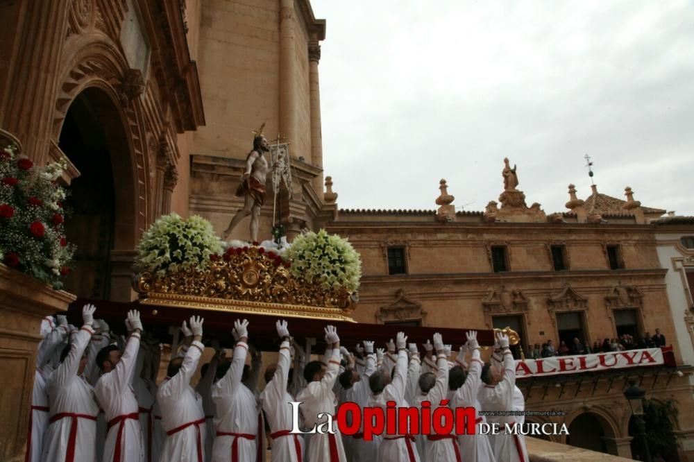
[[[19,27],[21,37],[15,53],[10,53],[13,64],[6,94],[1,95],[0,126],[22,140],[28,157],[44,164],[49,155],[58,65],[65,43],[70,1],[20,0],[19,3],[25,3],[24,20]],[[92,15],[92,1],[77,3],[78,12],[87,17]]]

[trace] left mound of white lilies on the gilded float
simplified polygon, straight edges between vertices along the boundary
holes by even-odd
[[[201,216],[184,220],[177,214],[160,216],[137,244],[135,271],[163,276],[178,269],[203,270],[210,255],[221,253],[212,224]]]

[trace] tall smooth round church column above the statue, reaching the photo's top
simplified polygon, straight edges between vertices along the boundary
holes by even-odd
[[[281,0],[280,6],[280,133],[296,143],[296,11],[294,0]],[[301,153],[290,150],[294,157]]]

